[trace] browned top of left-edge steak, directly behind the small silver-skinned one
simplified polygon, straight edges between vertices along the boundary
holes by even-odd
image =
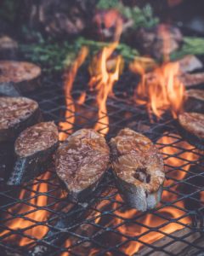
[[[14,127],[37,108],[37,102],[26,97],[0,97],[0,130]]]

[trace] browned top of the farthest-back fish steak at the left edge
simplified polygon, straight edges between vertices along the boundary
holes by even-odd
[[[0,61],[0,83],[19,83],[37,78],[41,68],[35,64],[23,61]]]

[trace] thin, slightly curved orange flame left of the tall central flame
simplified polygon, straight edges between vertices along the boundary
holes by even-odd
[[[74,61],[71,67],[68,69],[68,73],[65,76],[65,122],[59,122],[60,132],[59,140],[63,141],[66,139],[66,131],[72,132],[73,124],[75,123],[75,105],[71,96],[71,90],[74,83],[74,80],[77,76],[78,68],[82,66],[82,63],[85,61],[88,55],[88,48],[82,47],[79,52],[77,59]]]

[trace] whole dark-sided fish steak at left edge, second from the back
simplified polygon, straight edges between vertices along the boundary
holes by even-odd
[[[0,142],[14,141],[20,131],[41,119],[37,102],[26,97],[0,98]]]

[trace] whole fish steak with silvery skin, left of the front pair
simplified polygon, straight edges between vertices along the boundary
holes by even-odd
[[[39,123],[20,133],[14,143],[14,169],[8,185],[30,181],[47,170],[58,146],[58,129],[54,122]]]

